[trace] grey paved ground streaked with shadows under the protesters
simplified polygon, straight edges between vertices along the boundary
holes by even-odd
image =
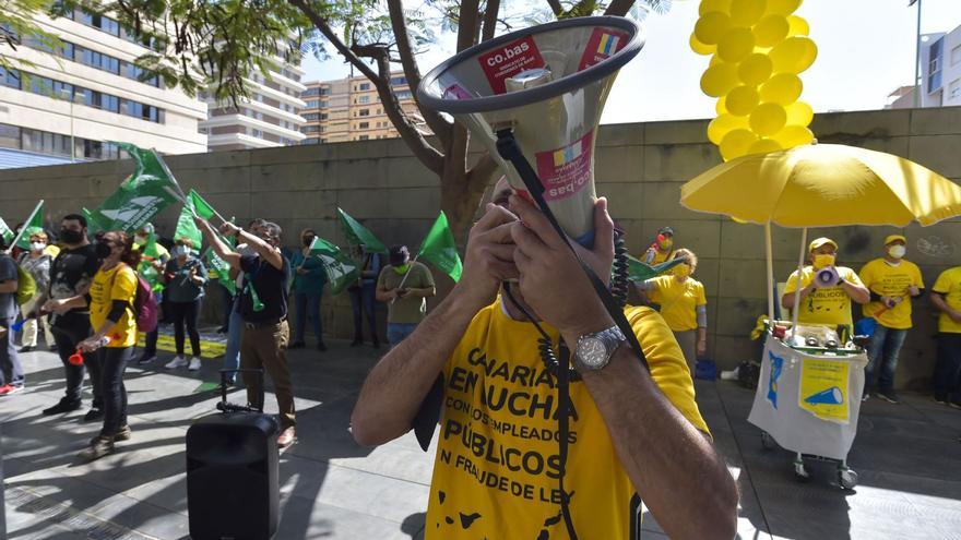
[[[434,453],[413,435],[375,449],[354,444],[349,411],[377,355],[329,345],[322,356],[293,355],[300,441],[281,457],[276,538],[422,538]],[[98,425],[81,423],[82,411],[41,417],[62,392],[59,360],[34,352],[23,361],[28,389],[0,401],[10,538],[188,538],[183,436],[213,410],[213,395],[194,389],[216,379],[218,362],[195,374],[166,371],[163,359],[130,368],[133,439],[80,465],[74,456]],[[844,492],[831,466],[812,467],[814,480],[802,484],[787,452],[761,448],[746,421],[751,397],[733,383],[698,382],[701,410],[740,485],[740,538],[961,539],[961,411],[923,396],[866,404],[850,455],[861,485]],[[644,528],[645,538],[666,538],[650,516]]]

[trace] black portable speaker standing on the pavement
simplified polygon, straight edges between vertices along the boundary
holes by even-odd
[[[269,540],[277,531],[277,421],[226,403],[187,430],[192,540]]]

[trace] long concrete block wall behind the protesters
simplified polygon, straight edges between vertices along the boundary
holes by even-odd
[[[628,231],[628,245],[639,253],[655,231],[671,225],[678,247],[700,256],[697,277],[709,296],[709,353],[729,368],[752,358],[747,335],[766,311],[763,235],[758,226],[699,214],[678,204],[680,185],[720,163],[705,140],[705,120],[616,124],[597,140],[597,191],[610,200],[610,212]],[[818,115],[812,125],[821,142],[845,143],[911,158],[951,179],[961,179],[961,108],[885,110]],[[312,227],[343,242],[336,221],[341,206],[364,220],[384,242],[417,245],[437,215],[437,179],[411,156],[399,140],[311,145],[257,151],[170,156],[167,159],[185,189],[203,193],[225,216],[241,221],[260,216],[277,221],[288,243]],[[0,171],[0,216],[22,220],[37,197],[47,200],[49,216],[94,207],[132,169],[129,161]],[[749,193],[745,193],[749,196]],[[170,233],[178,209],[158,219]],[[886,227],[812,230],[841,245],[840,262],[855,268],[878,256]],[[961,220],[922,229],[909,227],[907,259],[917,262],[930,286],[938,273],[961,260]],[[775,229],[775,274],[784,280],[796,265],[800,232]],[[446,290],[450,284],[443,283]],[[209,302],[213,304],[214,302]],[[324,301],[325,331],[352,332],[346,298]],[[915,303],[915,331],[901,357],[899,384],[926,383],[934,364],[935,320],[927,300]]]

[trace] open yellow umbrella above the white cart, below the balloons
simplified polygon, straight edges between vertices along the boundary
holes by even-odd
[[[927,226],[961,214],[961,187],[891,154],[811,144],[713,167],[681,187],[680,204],[783,227]]]

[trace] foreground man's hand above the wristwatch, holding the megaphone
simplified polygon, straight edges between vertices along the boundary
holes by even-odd
[[[568,338],[612,326],[613,320],[588,276],[547,217],[520,196],[512,195],[510,204],[521,218],[511,226],[511,237],[518,245],[514,261],[524,300]],[[607,214],[606,199],[594,204],[594,249],[588,251],[577,243],[574,249],[606,284],[614,262],[614,221]]]

